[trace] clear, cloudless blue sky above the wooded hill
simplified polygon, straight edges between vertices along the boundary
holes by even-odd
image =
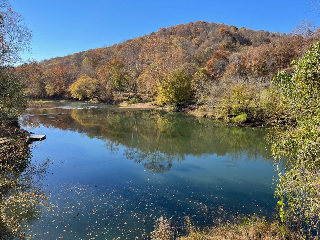
[[[308,0],[71,1],[9,0],[33,30],[36,60],[122,42],[160,27],[205,20],[289,33],[301,20],[320,26]]]

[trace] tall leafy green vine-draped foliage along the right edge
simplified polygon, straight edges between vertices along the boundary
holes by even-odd
[[[274,78],[289,111],[281,116],[285,128],[276,127],[269,135],[275,160],[288,159],[279,166],[276,196],[280,217],[301,216],[317,232],[320,223],[320,43],[316,43],[298,62],[292,75],[281,71]],[[286,215],[285,210],[291,215]]]

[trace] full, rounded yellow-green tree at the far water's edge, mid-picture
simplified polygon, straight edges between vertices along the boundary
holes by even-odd
[[[181,104],[190,97],[190,92],[190,77],[180,68],[176,68],[160,84],[158,102]]]

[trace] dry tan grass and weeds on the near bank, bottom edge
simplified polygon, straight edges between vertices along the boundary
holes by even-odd
[[[162,226],[164,223],[165,226]],[[170,221],[169,221],[170,222]],[[264,218],[258,215],[251,217],[238,216],[232,220],[223,220],[222,218],[215,219],[215,225],[210,228],[196,228],[190,217],[185,218],[185,226],[183,233],[180,236],[173,237],[174,232],[168,234],[170,238],[157,238],[152,240],[176,239],[176,240],[303,240],[302,231],[292,230],[290,227],[284,226],[284,231],[281,229],[281,224],[278,221],[267,222]],[[168,233],[168,221],[161,219],[157,220],[155,225],[157,236],[164,236],[164,232]],[[173,229],[173,228],[172,228]],[[285,234],[284,234],[285,232]],[[312,238],[310,238],[312,239]]]

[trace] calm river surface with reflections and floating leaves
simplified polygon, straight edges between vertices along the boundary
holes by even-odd
[[[28,108],[20,123],[34,121],[47,139],[33,159],[51,159],[43,239],[143,239],[161,215],[208,225],[221,205],[268,215],[276,204],[265,128],[74,101]]]

